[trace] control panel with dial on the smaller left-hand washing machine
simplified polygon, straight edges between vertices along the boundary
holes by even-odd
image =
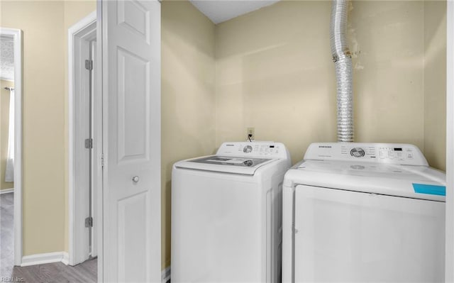
[[[282,143],[274,142],[235,142],[223,143],[216,155],[262,158],[289,158],[287,148]]]

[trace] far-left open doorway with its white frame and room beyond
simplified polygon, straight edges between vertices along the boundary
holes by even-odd
[[[22,31],[15,28],[0,28],[0,44],[2,100],[0,267],[1,274],[8,275],[14,265],[22,263]],[[5,224],[7,228],[4,227]],[[4,270],[5,268],[7,270]]]

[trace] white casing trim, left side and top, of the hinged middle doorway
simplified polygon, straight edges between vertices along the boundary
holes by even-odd
[[[76,200],[79,199],[77,197],[77,192],[74,190],[74,184],[75,184],[75,178],[74,176],[74,162],[76,161],[74,158],[74,126],[75,126],[75,113],[74,111],[74,88],[76,86],[76,83],[74,82],[74,67],[76,66],[77,62],[75,62],[75,55],[74,55],[74,45],[77,43],[77,38],[76,35],[80,32],[82,32],[84,29],[86,29],[89,26],[92,26],[94,23],[96,23],[96,11],[93,11],[90,13],[88,16],[85,18],[82,18],[81,21],[77,22],[72,26],[71,28],[68,29],[68,126],[69,126],[69,131],[68,131],[68,168],[69,168],[69,174],[68,174],[68,228],[69,228],[69,255],[68,255],[68,263],[70,265],[76,265],[77,263],[80,263],[81,260],[79,260],[80,256],[77,255],[77,250],[79,249],[77,239],[80,239],[79,234],[81,231],[79,231],[77,228],[74,227],[74,224],[76,223],[76,219],[80,218],[78,216],[78,211],[77,211],[77,205],[76,205]]]

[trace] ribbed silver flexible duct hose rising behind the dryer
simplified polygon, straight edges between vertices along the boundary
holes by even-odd
[[[347,45],[348,0],[333,0],[331,9],[331,54],[336,65],[338,141],[353,141],[352,58]]]

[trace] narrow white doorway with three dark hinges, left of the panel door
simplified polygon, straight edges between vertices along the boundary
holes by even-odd
[[[77,265],[98,255],[95,216],[96,12],[68,32],[69,62],[69,260]]]

